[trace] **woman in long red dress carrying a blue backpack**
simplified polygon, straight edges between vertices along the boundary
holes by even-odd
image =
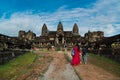
[[[81,59],[80,59],[81,51],[78,43],[73,47],[73,50],[74,50],[74,55],[72,56],[71,64],[75,66],[80,64],[81,62]]]

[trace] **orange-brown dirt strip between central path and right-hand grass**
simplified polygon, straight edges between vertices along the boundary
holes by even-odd
[[[71,59],[69,52],[67,55]],[[117,77],[100,67],[94,66],[89,62],[87,64],[81,63],[78,66],[74,66],[74,68],[81,80],[120,80],[120,77]]]

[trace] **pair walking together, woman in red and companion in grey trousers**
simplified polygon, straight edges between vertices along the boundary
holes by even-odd
[[[72,65],[78,65],[81,62],[83,62],[84,64],[87,64],[87,49],[85,46],[82,46],[82,49],[80,49],[79,45],[76,44],[73,47],[73,51],[74,51],[74,55],[72,55],[72,60],[71,60],[71,64]],[[81,59],[82,58],[82,59]]]

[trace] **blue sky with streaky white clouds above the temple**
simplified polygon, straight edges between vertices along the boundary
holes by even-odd
[[[60,21],[64,31],[77,23],[82,36],[88,30],[120,34],[120,0],[0,0],[0,34],[31,30],[39,36],[44,23],[56,31]]]

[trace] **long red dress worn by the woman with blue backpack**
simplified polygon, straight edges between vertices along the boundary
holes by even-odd
[[[71,64],[78,65],[80,63],[80,51],[78,50],[77,46],[73,48],[75,55],[72,57]]]

